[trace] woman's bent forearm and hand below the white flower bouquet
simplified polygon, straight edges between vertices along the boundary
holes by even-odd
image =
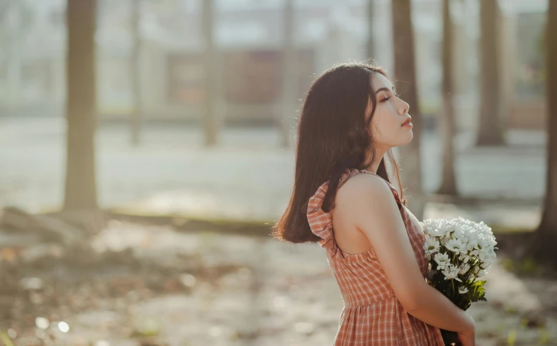
[[[419,301],[407,311],[428,325],[450,330],[468,332],[475,328],[474,319],[435,288],[424,284],[419,292]]]

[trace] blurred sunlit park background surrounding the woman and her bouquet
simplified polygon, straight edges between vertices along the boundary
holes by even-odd
[[[370,59],[409,209],[499,242],[479,345],[557,345],[549,1],[0,0],[0,345],[331,343],[325,252],[269,234],[310,84]]]

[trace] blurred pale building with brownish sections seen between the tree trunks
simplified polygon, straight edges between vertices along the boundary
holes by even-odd
[[[65,1],[17,2],[0,24],[0,115],[63,114]],[[104,119],[131,109],[131,1],[98,0],[98,104]],[[335,62],[365,60],[367,0],[294,0],[298,99],[316,73]],[[542,32],[547,0],[499,0],[504,114],[510,127],[541,128],[544,119]],[[204,100],[201,0],[142,0],[141,103],[146,119],[195,120]],[[215,3],[215,44],[229,122],[271,124],[282,102],[283,0]],[[478,0],[452,1],[460,128],[477,124]],[[0,8],[1,10],[1,8]],[[373,58],[392,75],[391,2],[375,0]],[[441,1],[413,0],[420,107],[435,119],[441,98]]]

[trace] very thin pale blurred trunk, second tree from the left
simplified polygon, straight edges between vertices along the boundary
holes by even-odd
[[[140,51],[141,51],[141,34],[140,34],[140,1],[130,0],[131,10],[131,51],[129,64],[129,78],[131,91],[131,113],[130,113],[130,130],[131,144],[133,146],[140,145],[141,122],[142,122],[142,104],[141,104],[141,80],[140,80]]]

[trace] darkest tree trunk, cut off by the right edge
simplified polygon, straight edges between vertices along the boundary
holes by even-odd
[[[527,255],[557,267],[557,1],[547,11],[547,174],[541,222]]]

